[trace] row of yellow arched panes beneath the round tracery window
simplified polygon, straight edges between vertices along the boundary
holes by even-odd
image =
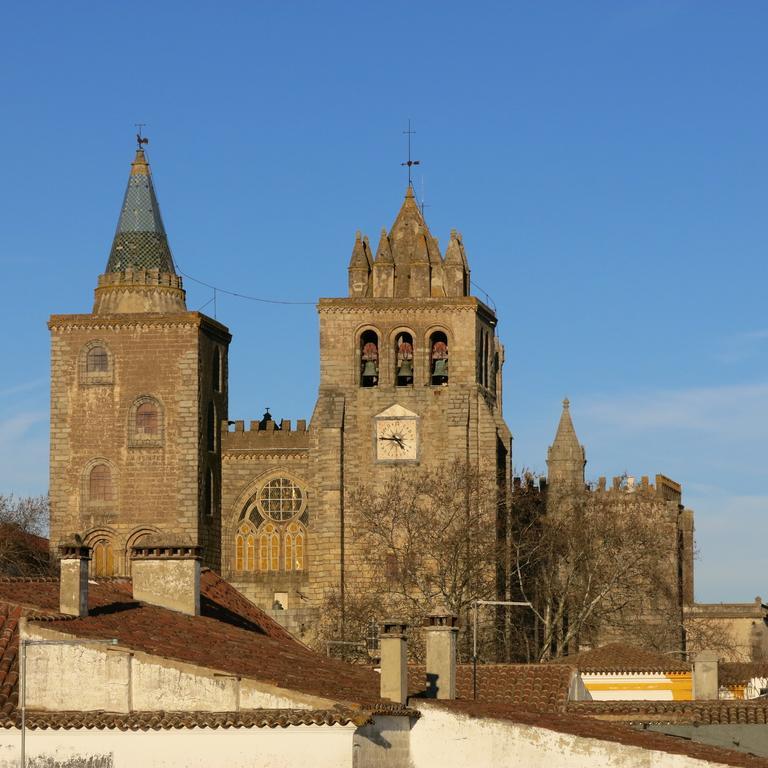
[[[286,526],[281,535],[272,522],[263,523],[257,530],[247,520],[241,523],[235,535],[235,570],[303,571],[306,535],[304,526],[298,522]]]

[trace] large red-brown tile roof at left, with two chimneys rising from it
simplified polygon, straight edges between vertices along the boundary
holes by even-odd
[[[66,634],[114,637],[120,645],[137,651],[336,702],[389,706],[379,698],[376,672],[310,650],[212,571],[205,570],[201,576],[200,616],[134,601],[128,579],[92,582],[88,597],[88,616],[67,617],[58,613],[57,579],[0,579],[0,605],[6,617],[0,628],[0,643],[4,641],[0,651],[8,656],[0,657],[5,714],[15,706],[21,615],[28,615],[31,621],[55,622],[55,629]]]

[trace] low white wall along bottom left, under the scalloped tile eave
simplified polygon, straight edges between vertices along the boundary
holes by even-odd
[[[28,731],[27,756],[29,768],[352,768],[354,730]],[[19,747],[18,730],[0,729],[0,768],[18,768]]]

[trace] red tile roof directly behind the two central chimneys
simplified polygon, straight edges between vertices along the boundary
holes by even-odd
[[[576,668],[565,664],[478,664],[477,700],[524,706],[535,712],[560,712],[568,703]],[[425,696],[426,669],[408,667],[408,692]],[[456,695],[473,699],[472,665],[456,667]]]

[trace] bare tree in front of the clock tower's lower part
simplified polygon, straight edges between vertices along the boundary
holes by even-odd
[[[473,600],[496,595],[503,552],[497,499],[495,481],[484,483],[461,461],[395,469],[383,486],[352,493],[355,570],[363,575],[346,585],[343,603],[338,594],[328,596],[321,642],[342,632],[363,638],[372,622],[396,617],[413,628],[409,652],[419,659],[418,628],[431,609],[445,606],[466,619]]]

